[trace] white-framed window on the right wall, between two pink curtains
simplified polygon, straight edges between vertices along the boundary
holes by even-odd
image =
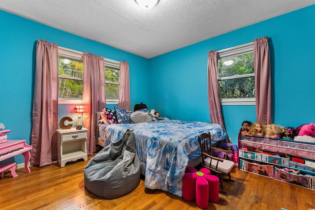
[[[218,89],[222,105],[254,105],[253,42],[218,51]]]

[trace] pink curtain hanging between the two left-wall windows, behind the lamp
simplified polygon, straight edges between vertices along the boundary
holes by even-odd
[[[84,52],[83,70],[83,127],[88,128],[87,150],[96,151],[95,112],[106,106],[104,58]]]

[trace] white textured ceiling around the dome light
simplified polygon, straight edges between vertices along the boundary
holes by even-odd
[[[267,20],[315,0],[0,0],[0,9],[142,56],[155,56]],[[3,21],[3,20],[1,20]]]

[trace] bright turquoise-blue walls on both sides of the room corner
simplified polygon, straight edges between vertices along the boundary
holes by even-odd
[[[198,42],[150,60],[0,10],[0,122],[9,139],[32,132],[36,40],[129,62],[131,109],[144,102],[162,117],[210,122],[207,93],[208,51],[268,36],[272,71],[273,120],[284,126],[315,122],[315,5]],[[153,79],[155,78],[155,79]],[[113,108],[113,105],[109,105]],[[76,114],[60,105],[59,117]],[[255,106],[222,106],[227,133],[237,144],[243,120],[255,121]],[[17,163],[23,156],[15,158]]]

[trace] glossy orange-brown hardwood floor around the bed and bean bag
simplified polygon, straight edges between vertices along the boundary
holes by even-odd
[[[89,157],[88,161],[91,157]],[[31,173],[17,169],[12,178],[0,179],[0,209],[5,210],[192,210],[194,201],[144,187],[143,178],[130,193],[115,199],[95,196],[84,187],[83,169],[88,161],[61,168],[58,164],[42,168],[31,166]],[[232,170],[234,183],[224,182],[227,196],[209,210],[309,210],[315,209],[315,191],[259,175]]]

